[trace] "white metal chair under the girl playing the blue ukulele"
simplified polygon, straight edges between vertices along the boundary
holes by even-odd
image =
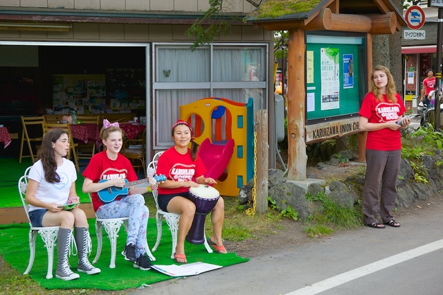
[[[89,195],[89,199],[91,199],[91,194]],[[98,258],[100,258],[100,254],[102,253],[102,244],[103,244],[103,229],[108,234],[109,243],[111,244],[111,262],[109,263],[109,268],[116,268],[116,253],[117,253],[117,238],[118,232],[120,231],[120,227],[123,225],[125,227],[125,231],[127,231],[127,222],[128,217],[120,217],[120,218],[98,218],[96,216],[96,235],[97,235],[97,253],[96,258],[94,258],[92,263],[96,263]],[[155,261],[155,257],[152,255],[150,251],[150,247],[147,245],[147,241],[145,243],[145,251],[147,256],[149,256],[150,260]],[[122,252],[123,254],[123,252]]]

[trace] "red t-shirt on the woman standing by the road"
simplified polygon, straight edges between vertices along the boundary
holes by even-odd
[[[359,115],[368,118],[369,123],[385,123],[398,120],[406,111],[401,97],[396,93],[397,102],[388,102],[386,95],[383,95],[383,102],[379,102],[374,93],[366,94],[361,104]],[[376,131],[369,131],[366,138],[367,150],[401,150],[400,129],[391,130],[383,128]]]

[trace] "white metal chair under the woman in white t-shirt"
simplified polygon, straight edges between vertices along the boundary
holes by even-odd
[[[46,274],[46,278],[53,278],[54,246],[55,246],[55,241],[57,240],[58,229],[60,228],[60,226],[37,227],[31,224],[29,219],[29,205],[25,201],[26,188],[28,187],[29,170],[30,167],[27,168],[24,175],[20,177],[18,184],[21,204],[23,204],[30,225],[30,230],[29,230],[30,256],[29,256],[28,268],[26,268],[24,274],[29,274],[30,269],[33,267],[34,258],[35,258],[35,238],[37,238],[37,233],[39,233],[46,247],[46,251],[48,251],[48,273]]]

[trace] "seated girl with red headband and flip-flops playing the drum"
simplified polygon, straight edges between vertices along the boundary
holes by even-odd
[[[185,255],[185,238],[196,210],[195,204],[189,199],[189,188],[217,182],[210,177],[204,177],[206,168],[197,155],[199,145],[192,140],[192,127],[188,122],[178,120],[172,126],[171,133],[175,145],[163,152],[156,170],[158,175],[166,175],[168,178],[159,183],[159,206],[163,211],[180,214],[179,237],[174,259],[177,263],[186,263],[188,261]],[[190,149],[188,149],[189,143],[192,143]],[[224,222],[224,200],[221,197],[212,211],[211,222],[214,233],[208,239],[208,243],[217,253],[228,253],[221,240]]]

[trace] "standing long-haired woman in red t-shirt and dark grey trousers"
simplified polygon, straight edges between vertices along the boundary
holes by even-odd
[[[406,127],[412,119],[403,118],[406,108],[386,66],[376,66],[371,81],[371,91],[366,94],[359,111],[359,127],[361,131],[368,132],[365,186],[361,202],[363,222],[374,229],[384,229],[383,224],[399,227],[399,222],[391,215],[397,198],[401,160],[399,129]],[[380,179],[380,217],[383,224],[377,220]]]

